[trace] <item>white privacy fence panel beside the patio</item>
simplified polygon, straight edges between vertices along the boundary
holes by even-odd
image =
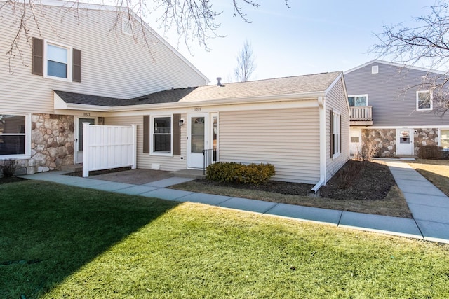
[[[91,170],[136,167],[136,126],[83,123],[83,177]]]

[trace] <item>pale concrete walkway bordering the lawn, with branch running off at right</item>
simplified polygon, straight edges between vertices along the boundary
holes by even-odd
[[[192,180],[182,177],[170,177],[168,179],[161,179],[159,181],[151,181],[142,184],[119,183],[102,179],[63,175],[67,172],[44,172],[22,177],[128,195],[157,197],[163,200],[199,202],[227,209],[250,211],[258,214],[280,216],[300,221],[328,223],[343,228],[354,228],[357,230],[380,232],[388,235],[449,243],[448,197],[444,197],[441,192],[438,193],[431,189],[431,187],[435,187],[417,174],[415,170],[407,167],[408,165],[406,165],[406,163],[391,162],[390,164],[389,162],[388,164],[396,181],[398,181],[398,186],[403,189],[403,193],[406,195],[407,202],[415,219],[302,207],[293,204],[278,204],[275,202],[264,202],[261,200],[249,200],[246,198],[210,195],[205,193],[192,193],[166,188],[177,183]],[[407,185],[408,180],[411,181],[410,178],[413,178],[411,186],[410,184]],[[423,197],[425,201],[423,200]]]

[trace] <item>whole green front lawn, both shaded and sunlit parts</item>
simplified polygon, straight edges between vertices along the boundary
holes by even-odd
[[[0,185],[0,298],[447,298],[449,246],[55,183]]]

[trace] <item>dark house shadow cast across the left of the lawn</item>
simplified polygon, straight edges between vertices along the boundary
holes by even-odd
[[[38,298],[177,204],[43,181],[0,185],[0,298]]]

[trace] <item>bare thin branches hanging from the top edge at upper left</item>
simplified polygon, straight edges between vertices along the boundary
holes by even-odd
[[[15,53],[20,55],[22,59],[22,50],[20,50],[20,39],[25,38],[31,47],[31,39],[29,36],[29,27],[35,26],[41,34],[40,22],[45,20],[48,24],[52,24],[56,20],[50,20],[46,17],[42,9],[41,0],[4,0],[4,4],[0,6],[0,21],[1,12],[5,8],[11,8],[13,14],[16,17],[15,24],[11,27],[15,28],[16,36],[13,41],[11,41],[11,48],[8,50],[9,60],[10,60],[10,72],[12,72],[13,66],[11,64],[11,59],[15,57]],[[78,25],[81,24],[82,19],[82,5],[81,0],[73,1],[61,1],[64,5],[60,8],[60,21],[62,22],[68,13],[74,13],[74,18]],[[212,3],[218,0],[112,0],[112,4],[116,6],[116,18],[112,29],[109,33],[116,31],[121,27],[122,18],[127,18],[130,24],[133,19],[137,16],[140,18],[139,21],[144,20],[148,13],[154,11],[161,11],[161,15],[156,20],[159,22],[161,28],[164,30],[164,34],[174,27],[177,34],[180,36],[178,44],[181,39],[183,39],[187,48],[190,49],[192,42],[197,41],[199,45],[206,50],[210,50],[208,47],[208,41],[216,37],[222,37],[218,33],[220,28],[220,23],[217,22],[217,17],[222,13],[222,11],[216,11],[213,8]],[[239,17],[244,22],[251,22],[249,18],[246,17],[246,13],[243,12],[243,6],[241,4],[246,4],[258,8],[261,4],[257,0],[227,0],[232,1],[234,8],[234,15],[239,15]],[[260,0],[259,0],[260,1]],[[148,3],[154,3],[154,8],[149,8]],[[284,0],[285,5],[288,7],[288,0]],[[40,6],[40,9],[37,7]],[[139,22],[139,30],[132,27],[133,38],[135,42],[138,42],[138,36],[142,36],[144,40],[143,47],[147,48],[152,59],[154,56],[152,53],[152,43],[154,41],[147,40],[147,32],[145,25]],[[137,26],[137,25],[136,25]],[[51,26],[55,35],[58,36],[55,27]]]

